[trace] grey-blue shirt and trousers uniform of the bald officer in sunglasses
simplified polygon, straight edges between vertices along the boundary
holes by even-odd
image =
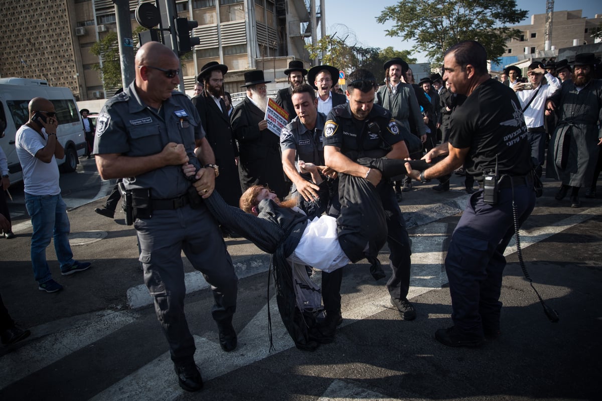
[[[160,153],[169,142],[184,144],[190,163],[195,139],[205,133],[199,114],[184,94],[174,91],[155,110],[138,96],[134,82],[107,100],[99,115],[94,153],[147,156]],[[190,360],[195,346],[184,316],[184,270],[181,252],[202,272],[213,289],[213,318],[231,319],[236,308],[238,278],[222,234],[201,201],[193,209],[187,194],[191,183],[181,166],[166,166],[123,179],[128,190],[150,189],[151,200],[135,204],[134,227],[140,243],[144,283],[154,297],[157,318],[169,342],[172,360]],[[134,197],[134,201],[136,201]],[[150,206],[150,207],[146,207]]]

